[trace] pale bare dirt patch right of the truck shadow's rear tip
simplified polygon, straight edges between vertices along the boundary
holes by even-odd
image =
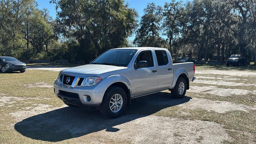
[[[256,107],[253,106],[246,106],[228,101],[208,100],[200,98],[192,98],[188,102],[178,105],[178,107],[185,107],[189,109],[201,108],[208,111],[213,110],[218,113],[225,113],[232,110],[241,110],[245,112],[248,112],[249,110],[256,110]]]

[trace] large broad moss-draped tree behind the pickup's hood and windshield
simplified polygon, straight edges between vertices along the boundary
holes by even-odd
[[[94,58],[105,50],[126,45],[137,26],[137,12],[123,0],[52,0],[51,3],[56,4],[60,34],[78,40],[83,52],[93,46]]]

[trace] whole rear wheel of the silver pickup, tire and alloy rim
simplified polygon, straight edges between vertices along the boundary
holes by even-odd
[[[185,78],[179,77],[175,87],[171,89],[171,94],[174,98],[183,98],[186,94],[187,82]]]

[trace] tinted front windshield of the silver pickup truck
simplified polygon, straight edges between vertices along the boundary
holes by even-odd
[[[91,64],[114,65],[126,67],[136,53],[135,49],[112,49],[99,56]]]

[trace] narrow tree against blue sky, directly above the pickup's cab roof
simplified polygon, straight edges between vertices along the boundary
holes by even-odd
[[[148,47],[164,47],[166,41],[161,38],[163,8],[149,3],[141,17],[140,27],[136,30],[134,44]]]

